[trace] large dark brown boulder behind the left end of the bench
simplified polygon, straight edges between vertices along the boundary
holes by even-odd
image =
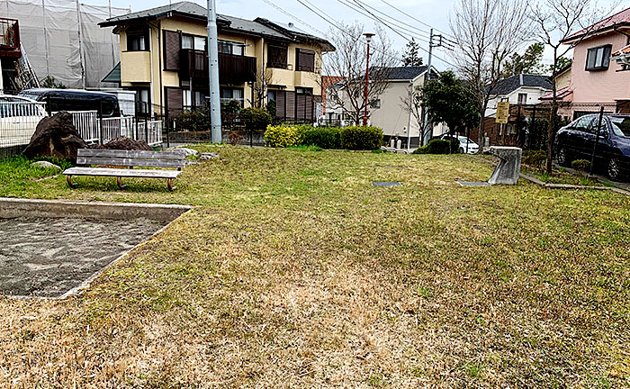
[[[23,154],[27,158],[76,159],[76,150],[86,148],[85,140],[72,123],[72,115],[62,111],[41,119]]]

